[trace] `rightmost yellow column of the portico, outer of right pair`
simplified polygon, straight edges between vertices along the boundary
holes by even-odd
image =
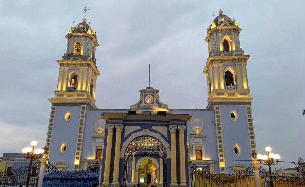
[[[179,154],[180,154],[180,185],[186,186],[186,172],[185,172],[185,145],[184,145],[184,131],[185,126],[178,126],[179,130]]]

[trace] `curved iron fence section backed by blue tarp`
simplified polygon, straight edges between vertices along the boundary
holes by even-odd
[[[48,163],[45,168],[43,187],[91,187],[97,186],[100,166],[87,167],[86,170],[66,171]]]

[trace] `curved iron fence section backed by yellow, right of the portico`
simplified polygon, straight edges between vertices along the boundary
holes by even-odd
[[[253,167],[249,166],[246,170],[238,173],[211,174],[204,169],[192,166],[191,186],[192,187],[255,187]]]

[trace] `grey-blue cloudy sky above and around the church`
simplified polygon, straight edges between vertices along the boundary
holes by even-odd
[[[294,2],[294,3],[292,3]],[[202,73],[207,27],[221,8],[242,28],[251,55],[247,70],[257,151],[271,146],[282,161],[305,157],[305,1],[31,1],[1,0],[0,154],[21,152],[35,139],[44,146],[50,103],[66,51],[65,35],[87,20],[96,31],[101,76],[99,108],[129,108],[151,85],[170,108],[205,108]],[[289,165],[292,166],[292,165]]]

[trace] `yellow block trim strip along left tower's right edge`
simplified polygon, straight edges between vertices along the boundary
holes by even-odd
[[[87,110],[87,106],[85,106],[85,105],[80,106],[78,129],[77,129],[78,133],[77,133],[77,137],[76,137],[74,166],[73,166],[73,170],[75,170],[75,171],[78,171],[80,169],[79,164],[80,164],[81,155],[82,155],[82,142],[83,142],[83,136],[84,136],[84,131],[85,131],[86,110]],[[80,127],[82,127],[82,129],[80,129]],[[79,150],[77,150],[77,149],[79,149]]]

